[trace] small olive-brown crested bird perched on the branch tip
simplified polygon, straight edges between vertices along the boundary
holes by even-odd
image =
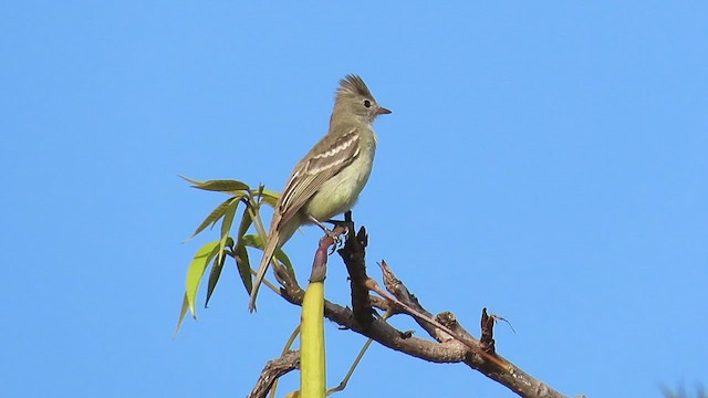
[[[330,130],[295,166],[275,205],[263,259],[251,290],[249,311],[256,310],[258,287],[280,249],[303,224],[322,222],[351,210],[374,164],[376,134],[372,124],[391,111],[378,106],[364,81],[347,75],[340,81]]]

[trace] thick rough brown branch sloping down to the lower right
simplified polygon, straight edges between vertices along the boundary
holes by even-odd
[[[347,214],[345,221],[350,234],[354,230],[354,223]],[[379,317],[374,317],[373,306],[388,310],[394,314],[407,313],[395,302],[385,301],[379,297],[369,296],[366,283],[365,249],[367,235],[362,228],[356,235],[350,235],[343,249],[339,250],[340,255],[346,264],[352,284],[352,310],[325,300],[324,316],[337,323],[344,328],[369,337],[381,345],[404,353],[406,355],[420,358],[430,363],[461,363],[470,368],[483,374],[490,379],[509,388],[520,397],[528,398],[568,398],[554,390],[543,381],[530,376],[518,366],[499,356],[494,352],[494,341],[492,337],[493,316],[488,316],[486,308],[482,312],[482,342],[476,339],[458,321],[455,314],[444,312],[435,316],[435,321],[452,332],[452,335],[442,331],[429,322],[425,322],[414,316],[414,320],[435,341],[424,339],[404,333]],[[391,268],[382,261],[384,273],[384,285],[396,300],[414,308],[420,314],[433,315],[426,311],[418,298],[413,295],[405,284],[398,280]],[[285,268],[278,268],[277,275],[283,287],[282,296],[290,303],[302,305],[303,291],[298,282],[289,274]],[[472,349],[471,347],[476,347]],[[483,350],[483,353],[479,353]],[[483,355],[480,355],[483,354]],[[494,360],[489,360],[493,356]],[[503,364],[501,367],[499,364]],[[266,369],[263,370],[266,371]],[[261,378],[263,376],[261,375]],[[259,379],[260,380],[260,379]],[[264,396],[264,394],[263,394]],[[258,396],[252,396],[258,397]]]

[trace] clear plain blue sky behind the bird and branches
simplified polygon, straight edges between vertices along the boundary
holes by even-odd
[[[0,6],[3,397],[244,396],[299,320],[228,268],[173,339],[187,238],[280,190],[361,74],[393,109],[354,217],[431,312],[570,395],[708,383],[705,2]],[[287,247],[309,273],[320,231]],[[256,255],[256,254],[254,254]],[[327,296],[347,297],[332,258]],[[414,324],[392,321],[406,329]],[[364,338],[327,324],[330,385]],[[421,335],[421,332],[419,332]],[[288,376],[281,392],[296,386]],[[342,397],[511,397],[374,345]]]

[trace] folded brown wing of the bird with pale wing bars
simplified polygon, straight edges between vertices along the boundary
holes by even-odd
[[[334,142],[322,138],[293,170],[280,198],[280,223],[287,223],[308,200],[358,156],[361,132],[352,127]],[[324,220],[321,220],[324,221]]]

